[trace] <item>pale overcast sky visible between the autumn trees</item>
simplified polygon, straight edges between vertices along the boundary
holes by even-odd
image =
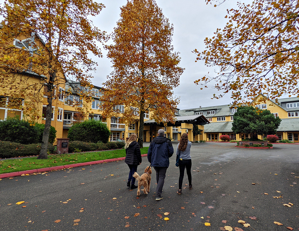
[[[0,0],[0,3],[3,2],[4,0]],[[112,33],[120,18],[120,7],[125,5],[127,1],[97,0],[97,2],[103,3],[106,8],[102,10],[100,15],[91,17],[91,19],[100,30]],[[225,26],[227,22],[227,19],[224,18],[227,13],[226,9],[236,8],[237,0],[225,1],[218,7],[213,7],[211,4],[206,5],[204,0],[156,0],[156,3],[170,23],[173,24],[174,50],[180,52],[181,62],[179,66],[185,68],[180,78],[179,87],[174,89],[174,95],[180,97],[178,108],[188,109],[231,103],[232,99],[229,94],[221,99],[212,100],[213,94],[220,92],[212,89],[211,86],[200,90],[200,86],[194,84],[195,80],[208,74],[208,72],[212,76],[214,68],[206,67],[203,61],[195,63],[196,55],[192,51],[205,49],[204,39],[212,37],[217,28]],[[106,76],[112,71],[112,64],[106,57],[106,50],[102,49],[102,52],[103,58],[95,58],[98,66],[92,79],[93,84],[100,87],[106,81]]]

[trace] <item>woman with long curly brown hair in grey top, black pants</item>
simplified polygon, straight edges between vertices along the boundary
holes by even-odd
[[[179,168],[180,168],[180,177],[179,177],[179,191],[178,194],[181,195],[182,193],[182,184],[184,179],[184,172],[186,168],[188,181],[189,181],[189,189],[192,189],[192,177],[191,177],[191,156],[190,156],[190,148],[191,142],[188,140],[187,133],[182,134],[180,143],[176,148],[176,160],[179,158]]]

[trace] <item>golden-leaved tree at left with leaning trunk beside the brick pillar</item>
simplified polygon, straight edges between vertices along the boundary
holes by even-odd
[[[45,88],[46,120],[38,158],[47,158],[52,103],[59,86],[65,85],[65,76],[82,86],[90,85],[89,73],[96,63],[88,53],[102,56],[96,42],[103,41],[104,33],[89,18],[103,7],[91,0],[8,0],[0,8],[4,18],[0,29],[1,95],[14,99],[15,107],[34,124],[40,117]],[[32,82],[28,76],[37,80]],[[84,93],[84,88],[77,92],[81,98]]]

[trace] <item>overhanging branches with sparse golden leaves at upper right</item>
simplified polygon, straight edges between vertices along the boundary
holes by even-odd
[[[217,90],[231,92],[235,105],[263,93],[276,102],[283,94],[299,96],[299,2],[255,0],[238,3],[237,9],[227,12],[226,26],[204,40],[206,50],[194,51],[197,60],[218,69],[215,75],[195,83],[208,87],[216,82]],[[223,93],[213,97],[220,98]]]

